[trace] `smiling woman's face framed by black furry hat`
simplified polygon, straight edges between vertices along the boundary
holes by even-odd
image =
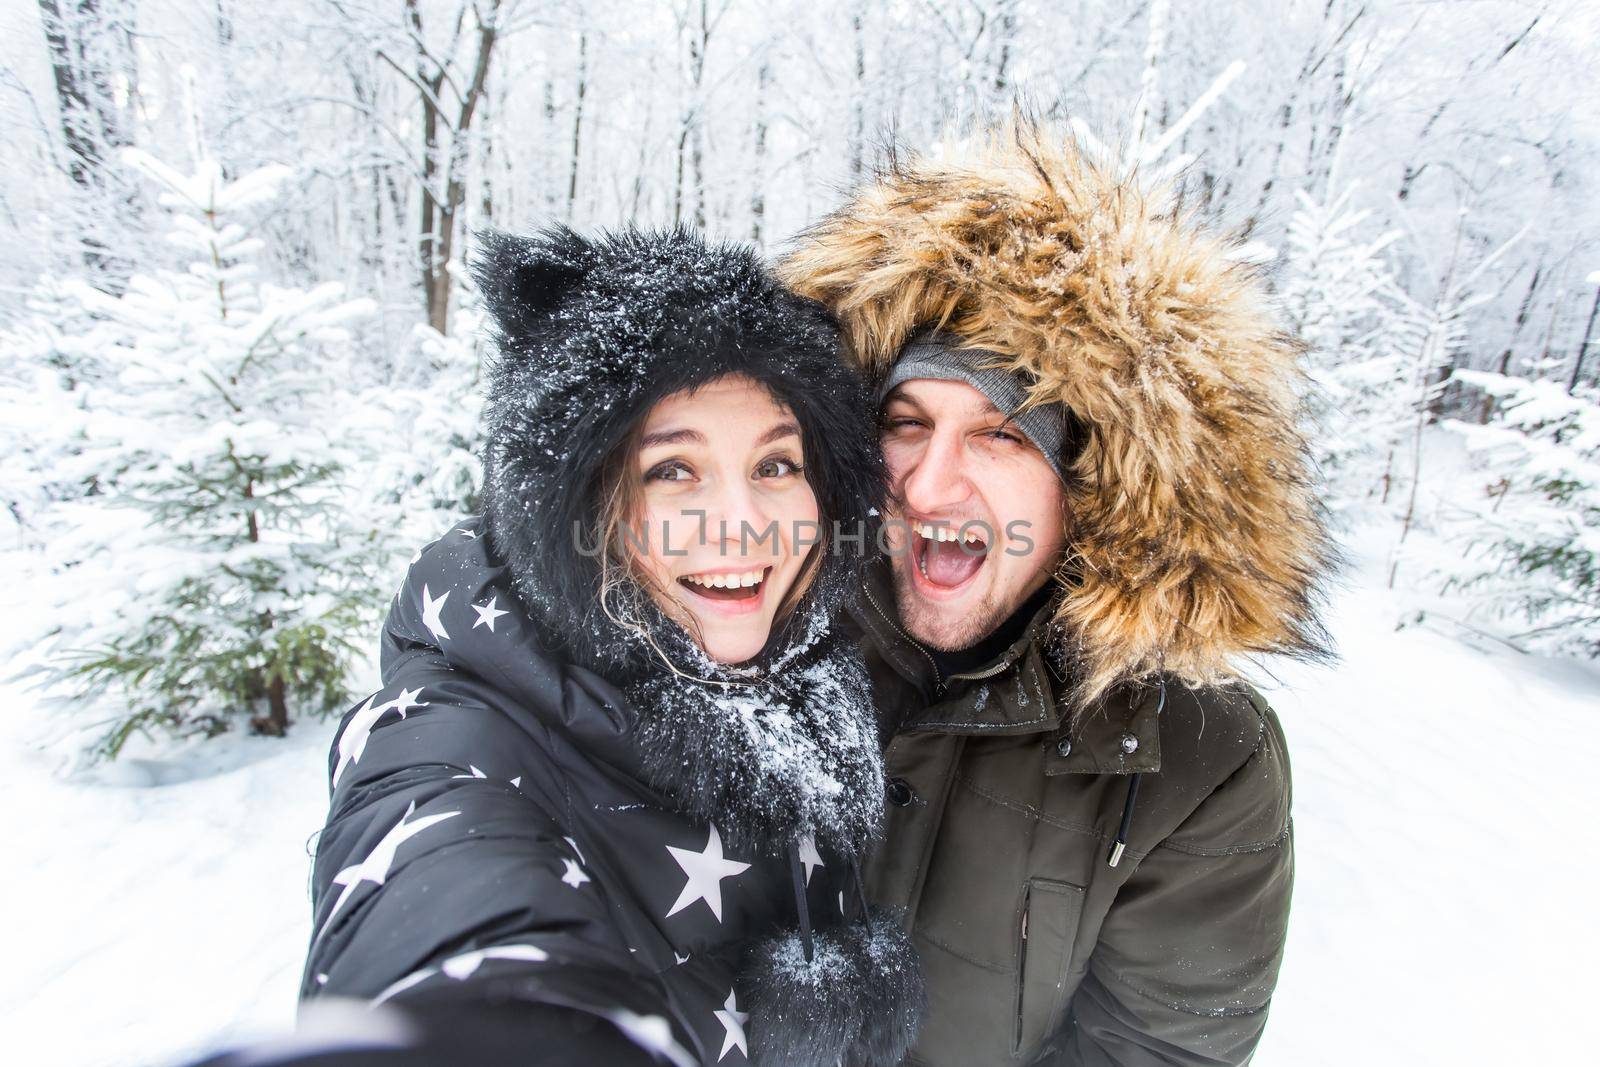
[[[651,408],[635,459],[645,514],[624,544],[651,597],[717,662],[750,659],[821,539],[794,414],[754,379],[718,378]]]

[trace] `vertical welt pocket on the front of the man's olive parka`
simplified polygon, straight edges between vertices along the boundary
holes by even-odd
[[[1011,1053],[1026,1054],[1061,1025],[1067,966],[1083,915],[1083,886],[1029,878],[1022,886],[1016,950],[1016,1022]]]

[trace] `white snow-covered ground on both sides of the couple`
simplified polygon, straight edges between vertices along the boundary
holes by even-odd
[[[1579,1062],[1600,960],[1600,669],[1397,632],[1389,539],[1357,539],[1333,617],[1342,665],[1282,669],[1269,689],[1299,867],[1256,1062]],[[5,696],[6,1059],[162,1064],[286,1025],[333,725],[64,781],[34,697]]]

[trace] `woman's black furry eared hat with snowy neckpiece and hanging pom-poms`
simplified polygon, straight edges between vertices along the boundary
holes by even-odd
[[[859,649],[826,622],[861,587],[866,553],[822,555],[757,664],[787,669],[744,678],[752,688],[723,701],[715,685],[662,672],[654,649],[600,611],[598,563],[581,550],[594,541],[590,496],[608,454],[658,400],[725,374],[755,379],[790,408],[824,520],[851,534],[858,523],[866,530],[882,506],[883,462],[866,386],[840,358],[832,317],[779,286],[749,248],[707,245],[682,229],[597,240],[565,227],[485,234],[472,270],[499,347],[486,406],[485,530],[518,600],[574,662],[606,678],[618,669],[632,675],[638,755],[685,811],[714,821],[730,845],[797,848],[797,835],[811,833],[858,854],[882,821],[883,765]],[[586,528],[582,542],[574,522]],[[872,539],[867,533],[864,544]],[[642,606],[662,627],[661,646],[693,653],[648,598]],[[726,677],[704,656],[696,667]],[[787,713],[750,725],[739,709],[755,702]],[[763,731],[789,745],[776,768],[750,752]],[[827,776],[810,774],[813,765]],[[826,777],[843,787],[818,790]],[[859,872],[854,881],[859,889]],[[803,885],[795,899],[805,917]],[[926,1005],[909,936],[891,915],[870,925],[840,917],[814,936],[802,933],[808,923],[762,939],[739,968],[752,1062],[898,1064]]]

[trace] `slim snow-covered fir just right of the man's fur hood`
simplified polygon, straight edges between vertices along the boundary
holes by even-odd
[[[1334,506],[1387,501],[1413,411],[1413,366],[1397,344],[1398,298],[1384,258],[1400,234],[1362,237],[1370,213],[1352,206],[1355,192],[1350,186],[1315,200],[1296,190],[1278,278],[1285,310],[1307,346],[1317,453]]]

